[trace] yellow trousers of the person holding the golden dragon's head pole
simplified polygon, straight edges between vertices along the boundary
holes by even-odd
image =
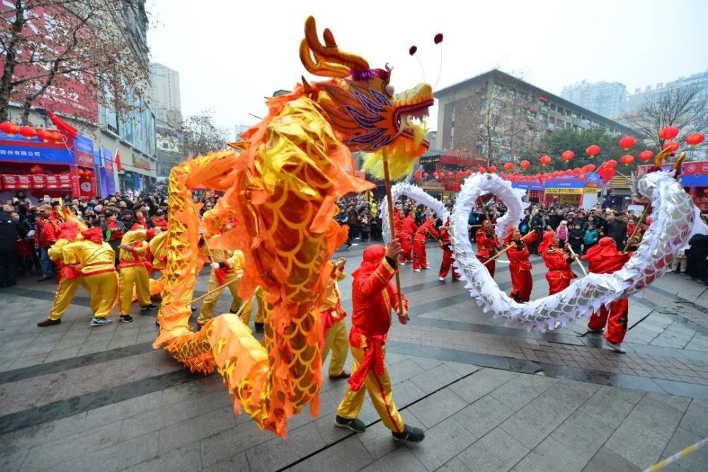
[[[352,357],[354,358],[353,372],[359,368],[359,364],[364,359],[364,351],[358,347],[351,347]],[[383,347],[384,359],[386,358],[386,346]],[[366,389],[365,389],[366,387]],[[347,388],[344,393],[344,398],[339,403],[337,415],[342,418],[353,420],[359,416],[362,406],[364,405],[365,393],[369,392],[374,407],[381,417],[384,425],[389,430],[395,432],[403,432],[404,422],[401,418],[401,413],[396,408],[394,403],[394,393],[391,389],[391,379],[389,371],[384,364],[384,374],[379,376],[373,370],[370,370],[364,381],[364,385],[359,391],[353,391],[351,387]]]

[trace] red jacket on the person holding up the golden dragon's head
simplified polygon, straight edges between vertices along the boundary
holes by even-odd
[[[391,310],[398,309],[398,292],[391,283],[395,273],[384,259],[371,274],[352,282],[352,326],[365,336],[386,335],[391,328]],[[402,299],[407,310],[408,300]]]

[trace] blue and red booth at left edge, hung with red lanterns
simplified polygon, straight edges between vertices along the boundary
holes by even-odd
[[[55,130],[8,127],[0,131],[0,200],[23,190],[33,200],[71,193],[94,197],[93,141]],[[22,130],[20,134],[19,130]]]

